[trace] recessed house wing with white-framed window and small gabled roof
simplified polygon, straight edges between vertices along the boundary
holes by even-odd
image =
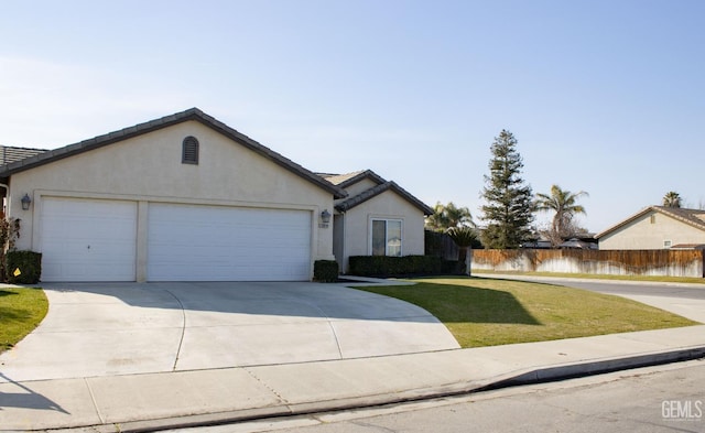
[[[431,207],[370,170],[322,176],[348,194],[335,202],[333,217],[334,255],[344,273],[350,256],[424,255]]]

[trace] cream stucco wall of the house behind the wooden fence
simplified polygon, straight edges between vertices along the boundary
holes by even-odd
[[[652,218],[653,223],[652,223]],[[705,243],[705,231],[685,223],[651,212],[641,218],[599,239],[600,250],[663,249],[664,241],[677,243]]]

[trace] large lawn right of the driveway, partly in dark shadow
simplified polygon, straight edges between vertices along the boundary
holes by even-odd
[[[696,322],[623,297],[554,284],[482,278],[417,279],[356,288],[416,304],[460,347],[544,342],[691,326]]]

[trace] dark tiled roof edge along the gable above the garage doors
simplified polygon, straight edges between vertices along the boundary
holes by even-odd
[[[188,110],[177,112],[175,115],[165,116],[161,119],[155,119],[144,123],[139,123],[133,127],[124,128],[119,131],[110,132],[105,136],[98,136],[93,139],[84,140],[82,142],[69,144],[64,148],[48,150],[42,153],[30,155],[21,160],[10,162],[7,165],[0,166],[0,177],[8,177],[14,173],[19,173],[25,170],[34,169],[40,165],[48,164],[54,161],[62,160],[64,158],[73,156],[78,153],[87,152],[94,149],[109,145],[122,140],[131,139],[141,134],[153,132],[163,128],[167,128],[177,123],[195,120],[202,125],[214,129],[217,132],[228,137],[232,141],[250,149],[251,151],[260,154],[261,156],[272,161],[273,163],[289,170],[290,172],[303,177],[304,180],[318,185],[319,187],[330,192],[335,198],[344,198],[347,193],[329,182],[326,182],[323,177],[314,174],[313,172],[304,169],[295,162],[284,158],[283,155],[274,152],[273,150],[258,143],[249,137],[236,131],[219,120],[206,115],[198,108],[191,108]]]

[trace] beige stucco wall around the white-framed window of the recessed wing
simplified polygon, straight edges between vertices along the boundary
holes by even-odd
[[[401,219],[402,256],[424,253],[423,213],[393,191],[386,191],[345,213],[344,251],[341,257],[337,257],[344,272],[348,269],[350,256],[371,255],[373,218]]]

